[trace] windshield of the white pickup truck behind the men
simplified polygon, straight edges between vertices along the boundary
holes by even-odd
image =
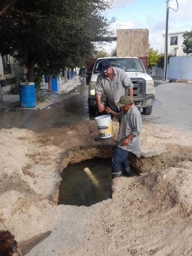
[[[145,72],[143,65],[139,59],[133,58],[115,58],[115,59],[105,59],[108,60],[112,67],[121,68],[127,72]],[[95,64],[94,73],[100,73],[99,63],[102,60],[98,60]]]

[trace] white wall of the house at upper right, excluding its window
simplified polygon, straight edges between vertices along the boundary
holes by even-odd
[[[183,52],[182,50],[182,44],[183,44],[183,33],[182,32],[175,32],[175,33],[170,33],[168,35],[168,54],[173,55],[173,56],[186,56],[186,53]],[[171,46],[170,45],[170,38],[172,36],[178,36],[178,41],[177,45]],[[178,48],[178,49],[175,49]],[[165,35],[162,35],[162,53],[165,52]]]

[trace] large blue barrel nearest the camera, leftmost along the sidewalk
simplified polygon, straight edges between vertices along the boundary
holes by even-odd
[[[34,108],[36,106],[34,82],[19,82],[19,100],[22,108]]]

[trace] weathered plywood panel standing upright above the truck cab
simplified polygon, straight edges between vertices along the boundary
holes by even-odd
[[[116,31],[116,56],[148,56],[148,29],[130,29]]]

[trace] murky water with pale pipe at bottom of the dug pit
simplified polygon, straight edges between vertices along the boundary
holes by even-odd
[[[111,159],[69,164],[62,173],[58,204],[90,206],[111,198]]]

